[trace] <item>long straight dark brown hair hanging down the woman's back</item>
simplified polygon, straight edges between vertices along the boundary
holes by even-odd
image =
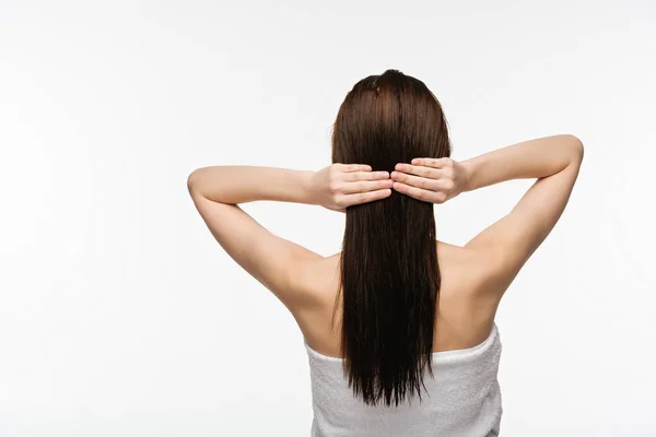
[[[359,81],[332,130],[333,163],[374,170],[450,156],[450,149],[440,102],[422,81],[398,70]],[[415,394],[421,401],[424,369],[433,376],[441,285],[435,239],[433,204],[395,190],[347,209],[341,353],[349,387],[367,404],[398,405]]]

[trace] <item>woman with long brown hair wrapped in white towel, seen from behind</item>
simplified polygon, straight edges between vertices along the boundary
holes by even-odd
[[[313,436],[494,436],[499,303],[563,212],[583,160],[573,135],[450,158],[442,107],[397,70],[358,82],[319,172],[200,168],[194,202],[230,256],[294,316],[308,354]],[[433,204],[537,178],[464,247],[435,239]],[[345,212],[342,251],[321,257],[277,237],[239,203],[274,200]]]

